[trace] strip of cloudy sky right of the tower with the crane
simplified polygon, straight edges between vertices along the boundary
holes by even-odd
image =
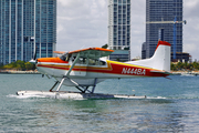
[[[185,0],[184,1],[184,19],[187,24],[184,25],[184,51],[192,55],[192,59],[199,59],[199,1]]]

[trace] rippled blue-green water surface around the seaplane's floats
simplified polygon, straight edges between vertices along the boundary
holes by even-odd
[[[115,79],[96,86],[98,93],[147,99],[61,100],[15,94],[19,90],[48,91],[53,79],[0,74],[0,133],[198,133],[199,76],[169,78]]]

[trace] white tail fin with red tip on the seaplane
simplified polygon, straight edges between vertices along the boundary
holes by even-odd
[[[156,51],[150,59],[129,61],[126,63],[170,72],[170,43],[166,41],[158,41]]]

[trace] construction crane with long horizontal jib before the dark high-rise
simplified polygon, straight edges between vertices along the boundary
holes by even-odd
[[[174,38],[172,38],[172,59],[176,59],[176,24],[177,23],[185,23],[187,24],[187,21],[184,20],[184,21],[177,21],[177,17],[175,17],[175,20],[174,21],[148,21],[146,23],[174,23]]]

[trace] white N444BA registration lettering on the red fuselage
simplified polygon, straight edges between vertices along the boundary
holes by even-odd
[[[145,69],[132,69],[132,68],[123,68],[122,74],[137,74],[137,75],[145,75]]]

